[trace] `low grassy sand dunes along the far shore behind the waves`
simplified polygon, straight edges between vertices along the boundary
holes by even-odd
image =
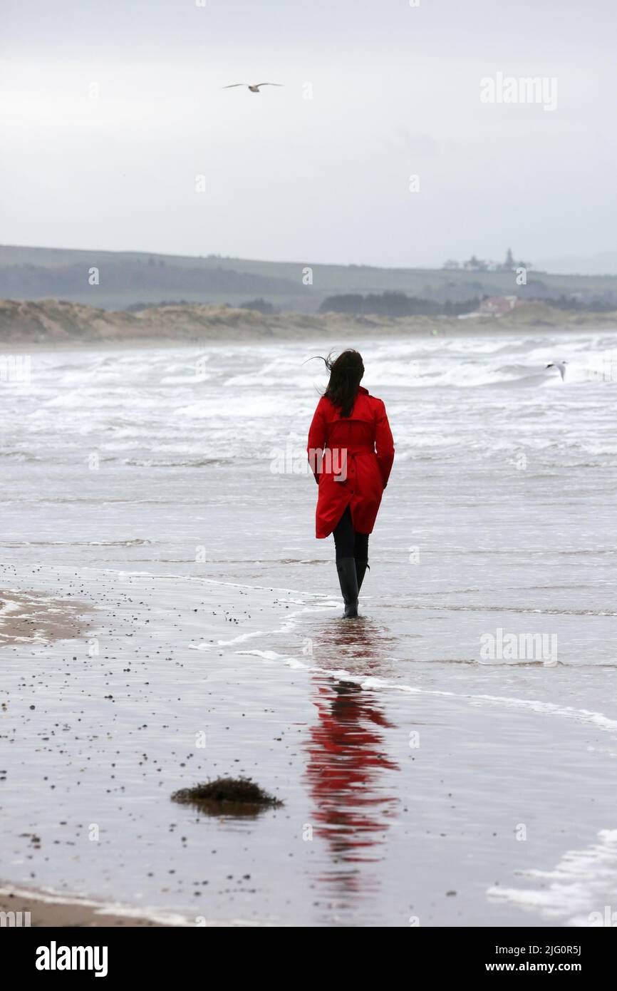
[[[380,334],[448,336],[528,328],[580,327],[617,331],[617,313],[565,312],[544,303],[525,303],[499,318],[345,313],[261,313],[225,306],[184,304],[153,306],[137,312],[110,311],[66,300],[0,300],[0,349],[34,345],[99,343],[203,343],[273,338],[324,337],[337,347],[350,337]]]

